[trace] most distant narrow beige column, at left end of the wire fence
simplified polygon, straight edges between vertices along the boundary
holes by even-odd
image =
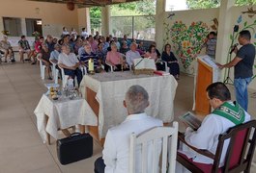
[[[110,6],[102,7],[101,10],[101,35],[106,37],[110,34]]]

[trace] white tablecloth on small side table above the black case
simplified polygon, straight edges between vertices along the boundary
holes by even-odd
[[[58,139],[58,130],[67,129],[73,125],[97,126],[97,116],[85,99],[60,98],[54,101],[43,94],[34,113],[37,116],[38,131],[46,141],[46,133]],[[46,117],[48,122],[46,124]]]

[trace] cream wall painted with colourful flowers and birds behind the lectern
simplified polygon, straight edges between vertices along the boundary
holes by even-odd
[[[248,7],[232,7],[230,9],[232,13],[232,21],[228,31],[229,33],[229,45],[231,44],[231,37],[234,25],[240,25],[240,31],[242,29],[250,30],[252,34],[252,43],[256,42],[256,14],[252,17],[248,17],[247,13],[242,14],[242,12],[247,11]],[[253,6],[256,10],[256,6]],[[179,58],[180,66],[182,71],[187,74],[193,75],[195,58],[198,55],[205,54],[205,50],[200,50],[200,46],[203,44],[206,34],[213,31],[213,26],[215,25],[213,18],[219,18],[219,9],[209,9],[209,10],[191,10],[191,11],[180,11],[180,12],[164,12],[162,16],[164,18],[163,34],[157,35],[158,39],[161,37],[162,45],[166,42],[171,43],[173,52]],[[255,23],[255,24],[254,24]],[[250,27],[248,27],[250,26]],[[254,31],[255,30],[255,31]],[[218,42],[223,37],[218,37]],[[234,37],[235,42],[237,42],[237,37]],[[157,42],[157,45],[160,45]],[[162,46],[163,47],[163,46]],[[228,52],[225,51],[221,55],[226,55],[223,57],[217,57],[217,62],[227,62]],[[233,55],[232,59],[235,55]],[[255,62],[256,64],[256,62]],[[233,73],[234,68],[231,68],[230,77],[234,79]],[[254,68],[254,74],[256,69]],[[223,73],[224,75],[224,73]],[[225,78],[225,76],[223,76]],[[249,85],[250,88],[256,89],[256,78]]]

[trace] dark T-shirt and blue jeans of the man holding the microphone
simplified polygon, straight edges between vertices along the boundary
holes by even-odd
[[[245,44],[240,48],[237,57],[242,59],[235,65],[234,86],[236,91],[236,100],[247,111],[248,93],[247,86],[253,75],[253,64],[255,59],[255,47],[252,44]]]

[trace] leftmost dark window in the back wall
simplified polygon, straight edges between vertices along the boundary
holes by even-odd
[[[22,35],[20,18],[3,17],[3,21],[4,30],[9,31],[10,36],[20,37]]]

